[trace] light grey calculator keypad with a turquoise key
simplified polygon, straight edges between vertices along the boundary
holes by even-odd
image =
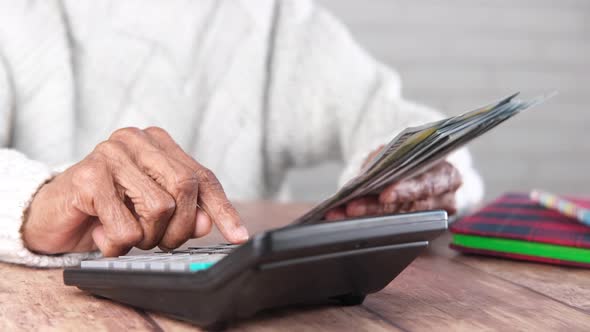
[[[135,256],[107,257],[82,261],[82,269],[157,272],[198,272],[223,259],[238,245],[189,247],[172,252],[155,252]]]

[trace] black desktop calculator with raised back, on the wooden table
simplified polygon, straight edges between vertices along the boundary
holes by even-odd
[[[86,260],[66,285],[209,329],[295,304],[361,304],[447,228],[445,211],[288,225],[242,245]]]

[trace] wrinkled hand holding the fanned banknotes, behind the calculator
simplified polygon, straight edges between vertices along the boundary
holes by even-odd
[[[372,152],[365,164],[380,149]],[[434,209],[444,209],[452,215],[457,212],[455,193],[461,184],[459,171],[443,161],[420,175],[387,186],[378,195],[360,197],[332,209],[325,217],[339,220]]]

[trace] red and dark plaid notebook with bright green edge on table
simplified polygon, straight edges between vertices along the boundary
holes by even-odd
[[[590,199],[568,199],[590,207]],[[590,227],[532,201],[508,193],[450,227],[451,248],[541,263],[590,267]]]

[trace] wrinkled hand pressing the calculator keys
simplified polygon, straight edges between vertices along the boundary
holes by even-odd
[[[209,169],[163,129],[125,128],[43,185],[21,231],[35,252],[117,256],[133,246],[177,248],[208,234],[212,223],[232,243],[248,239]]]

